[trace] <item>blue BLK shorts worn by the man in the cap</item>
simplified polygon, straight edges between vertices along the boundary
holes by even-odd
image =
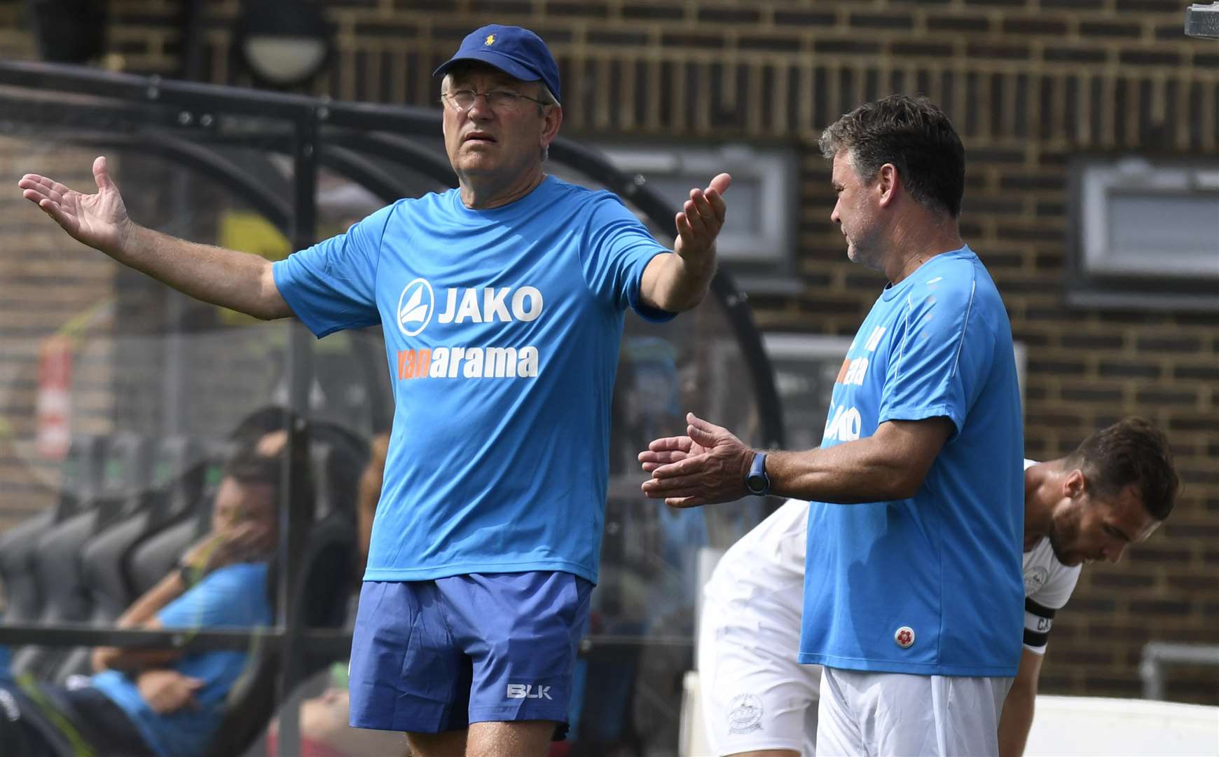
[[[351,725],[435,734],[492,720],[566,724],[591,592],[557,570],[364,581]]]

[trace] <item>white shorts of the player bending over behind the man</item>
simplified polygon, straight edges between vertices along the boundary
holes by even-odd
[[[711,602],[702,618],[698,700],[713,753],[791,750],[813,757],[822,668],[796,662],[798,618],[786,627],[748,624]]]

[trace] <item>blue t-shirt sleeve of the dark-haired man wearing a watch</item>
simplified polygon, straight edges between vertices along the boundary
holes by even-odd
[[[990,373],[995,335],[976,311],[972,277],[939,283],[906,295],[878,423],[942,416],[956,427],[954,438]]]

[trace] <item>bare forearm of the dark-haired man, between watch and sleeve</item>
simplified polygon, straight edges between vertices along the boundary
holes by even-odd
[[[818,502],[886,502],[914,495],[909,461],[875,436],[803,452],[770,452],[770,492]]]

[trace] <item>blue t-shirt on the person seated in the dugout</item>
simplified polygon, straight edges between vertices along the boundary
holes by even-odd
[[[238,563],[208,573],[189,591],[157,613],[165,628],[255,628],[271,625],[267,563]],[[221,706],[245,667],[246,653],[217,650],[195,652],[169,667],[202,679],[195,692],[199,709],[157,714],[140,696],[135,681],[118,670],[93,677],[95,689],[126,712],[158,757],[201,755],[221,722]]]

